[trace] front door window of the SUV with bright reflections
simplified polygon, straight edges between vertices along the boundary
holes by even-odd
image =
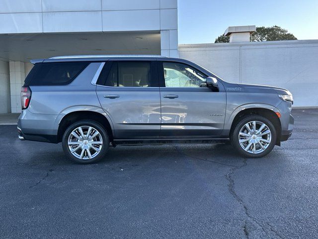
[[[206,76],[200,71],[175,62],[163,62],[165,87],[206,87]]]

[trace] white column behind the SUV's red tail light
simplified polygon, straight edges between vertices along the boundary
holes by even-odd
[[[24,62],[10,61],[11,113],[21,112],[21,87],[25,79]]]

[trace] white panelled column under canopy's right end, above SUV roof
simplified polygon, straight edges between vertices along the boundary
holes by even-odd
[[[160,31],[161,55],[178,58],[178,30]]]

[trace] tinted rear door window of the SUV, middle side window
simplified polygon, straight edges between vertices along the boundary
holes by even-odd
[[[106,69],[106,68],[105,68]],[[101,77],[104,74],[101,74]],[[98,81],[103,84],[103,80]],[[109,69],[105,86],[118,87],[150,87],[151,62],[118,61],[113,62]]]

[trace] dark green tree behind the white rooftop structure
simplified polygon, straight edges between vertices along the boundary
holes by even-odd
[[[256,32],[250,35],[250,41],[284,41],[297,40],[297,38],[280,26],[256,27]],[[230,42],[230,37],[221,35],[215,39],[214,43]]]

